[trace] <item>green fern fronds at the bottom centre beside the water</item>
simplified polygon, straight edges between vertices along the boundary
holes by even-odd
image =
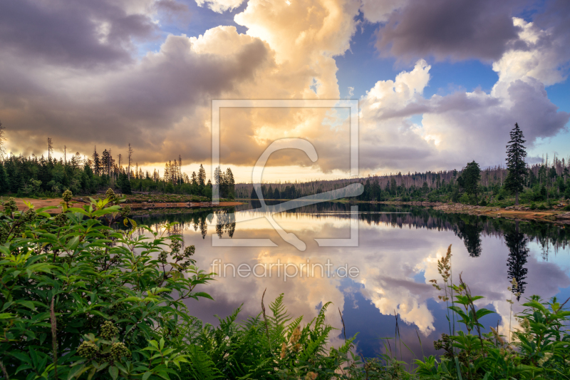
[[[354,338],[338,349],[327,349],[328,337],[333,330],[325,323],[326,308],[330,304],[325,304],[317,317],[302,327],[303,317],[292,319],[284,305],[284,294],[280,294],[269,304],[271,312],[267,315],[271,347],[261,313],[240,322],[240,306],[229,317],[217,317],[218,327],[202,326],[190,318],[180,329],[185,332],[187,342],[192,344],[186,354],[190,357],[190,366],[195,367],[187,371],[186,377],[200,380],[218,379],[219,376],[235,380],[299,379],[311,371],[318,373],[319,380],[339,379],[338,371],[349,361],[348,352]],[[295,342],[290,342],[298,327],[300,335],[297,333]],[[283,345],[285,349],[281,351]]]

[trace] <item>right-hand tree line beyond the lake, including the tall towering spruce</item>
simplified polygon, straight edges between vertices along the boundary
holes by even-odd
[[[486,204],[514,197],[514,203],[541,202],[570,197],[568,177],[570,161],[556,156],[529,165],[524,158],[524,135],[515,124],[507,145],[507,165],[481,169],[475,161],[460,170],[427,171],[425,173],[390,173],[367,178],[314,180],[295,183],[263,183],[265,199],[295,199],[338,190],[361,183],[363,194],[358,200],[383,201],[452,201]],[[253,183],[236,185],[238,198],[257,199]]]

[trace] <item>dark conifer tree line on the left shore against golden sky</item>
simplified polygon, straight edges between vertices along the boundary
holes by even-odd
[[[128,145],[128,154],[113,156],[110,149],[98,153],[95,146],[90,157],[80,153],[53,157],[53,143],[48,138],[48,157],[31,155],[6,155],[4,151],[4,127],[0,124],[0,193],[21,197],[56,197],[65,190],[76,195],[88,195],[107,188],[123,194],[138,192],[165,192],[170,194],[201,195],[212,197],[212,181],[207,179],[204,166],[198,173],[182,172],[182,158],[165,163],[165,168],[152,173],[133,160],[133,147]],[[222,173],[221,168],[217,168]],[[234,176],[227,168],[217,175],[215,184],[220,188],[220,197],[234,197]]]

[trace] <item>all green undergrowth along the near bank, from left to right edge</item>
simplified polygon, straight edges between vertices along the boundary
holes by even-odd
[[[449,321],[434,344],[442,350],[437,357],[405,363],[385,350],[363,358],[356,336],[333,347],[330,303],[305,322],[289,316],[284,294],[268,310],[262,297],[254,317],[239,319],[240,307],[217,327],[203,324],[185,303],[211,298],[195,289],[211,274],[195,267],[194,246],[183,249],[172,224],[161,232],[138,226],[126,217],[124,198],[111,190],[106,196],[78,208],[68,192],[55,216],[4,202],[3,379],[570,379],[566,302],[532,296],[514,315],[519,328],[509,321],[507,335],[487,332],[483,319],[493,312],[476,307],[482,297],[461,275],[454,284],[451,247],[438,262],[443,284],[432,280]],[[126,230],[113,228],[120,221]],[[509,289],[517,289],[516,279]]]

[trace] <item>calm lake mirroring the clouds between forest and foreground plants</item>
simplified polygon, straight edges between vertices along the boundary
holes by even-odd
[[[353,206],[298,203],[274,214],[283,233],[293,234],[286,239],[305,245],[304,250],[286,242],[266,219],[269,213],[251,210],[251,204],[214,214],[155,215],[138,222],[153,229],[179,222],[175,231],[182,233],[185,245],[195,245],[200,269],[219,274],[198,289],[215,301],[188,302],[195,317],[217,324],[214,314],[226,317],[241,304],[242,319],[259,314],[264,291],[266,307],[284,293],[289,314],[304,315],[305,322],[332,302],[327,322],[338,330],[331,343],[338,345],[345,333],[351,337],[358,332],[356,351],[364,356],[375,356],[385,347],[397,351],[398,359],[436,354],[432,342],[450,327],[446,304],[438,298],[443,293],[429,280],[442,284],[437,260],[449,245],[454,282],[458,284],[462,274],[472,294],[485,297],[477,307],[497,313],[484,317],[486,327],[498,324],[508,334],[509,323],[517,325],[507,299],[514,301],[513,312],[519,312],[532,294],[559,297],[561,302],[570,297],[568,229],[445,214],[430,207]],[[519,282],[516,291],[522,293],[519,300],[507,289],[513,276]],[[400,342],[394,345],[396,323],[401,342],[412,352]]]

